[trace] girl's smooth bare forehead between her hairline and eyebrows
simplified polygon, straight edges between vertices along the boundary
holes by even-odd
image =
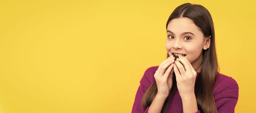
[[[174,34],[183,33],[183,32],[192,32],[195,34],[202,34],[200,28],[195,25],[193,20],[188,17],[174,18],[172,19],[168,26],[167,30],[172,31]]]

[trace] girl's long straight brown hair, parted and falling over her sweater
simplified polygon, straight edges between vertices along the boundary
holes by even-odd
[[[213,97],[213,88],[215,84],[215,79],[218,74],[218,62],[215,50],[215,34],[213,21],[209,11],[202,5],[194,5],[186,3],[178,6],[174,9],[173,13],[170,15],[167,26],[173,18],[188,17],[194,21],[195,25],[200,28],[204,37],[211,36],[210,47],[203,50],[203,60],[201,62],[201,71],[195,82],[195,95],[197,99],[198,109],[201,113],[218,113],[215,106],[215,100]],[[169,54],[167,53],[167,57]],[[177,90],[177,83],[175,74],[173,73],[173,85],[170,90],[168,98],[165,100],[161,113],[166,113],[170,100]],[[157,94],[157,84],[154,82],[146,91],[142,98],[143,108],[147,108],[151,105],[153,99]]]

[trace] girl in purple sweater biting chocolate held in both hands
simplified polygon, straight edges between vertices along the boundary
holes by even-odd
[[[166,30],[167,59],[144,73],[132,113],[233,113],[238,85],[218,73],[209,11],[201,5],[180,5]]]

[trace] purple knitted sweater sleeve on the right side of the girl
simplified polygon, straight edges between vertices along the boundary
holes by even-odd
[[[231,77],[225,77],[216,87],[219,93],[215,95],[215,104],[218,113],[234,113],[238,100],[238,85]],[[221,89],[221,90],[220,90]]]

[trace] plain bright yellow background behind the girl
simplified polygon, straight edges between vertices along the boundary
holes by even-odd
[[[190,2],[211,13],[235,111],[256,112],[253,0],[0,2],[0,113],[129,113],[148,67],[166,57],[166,21]]]

